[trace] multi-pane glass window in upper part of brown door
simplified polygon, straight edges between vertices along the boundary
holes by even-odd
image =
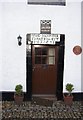
[[[55,64],[55,48],[35,48],[35,64]]]

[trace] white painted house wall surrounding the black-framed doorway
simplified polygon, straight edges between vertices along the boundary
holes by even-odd
[[[1,53],[2,75],[0,91],[13,91],[23,84],[26,91],[26,34],[40,33],[40,20],[52,21],[52,33],[65,34],[64,82],[74,84],[74,92],[81,92],[81,55],[72,49],[81,45],[81,3],[69,2],[67,6],[27,5],[26,2],[1,2]],[[22,46],[17,36],[22,36]],[[0,58],[1,58],[0,57]]]

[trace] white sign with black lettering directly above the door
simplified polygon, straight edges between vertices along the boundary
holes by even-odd
[[[56,42],[60,42],[60,34],[31,34],[32,44],[51,44],[55,45]]]

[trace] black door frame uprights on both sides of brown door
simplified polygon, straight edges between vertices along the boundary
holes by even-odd
[[[28,40],[30,34],[27,34],[26,44],[28,45]],[[50,45],[49,45],[50,46]],[[64,72],[64,50],[65,50],[65,34],[60,34],[60,41],[56,42],[55,46],[59,46],[58,53],[58,74],[57,74],[57,99],[63,99],[63,72]],[[27,99],[32,99],[32,44],[30,44],[31,49],[26,50],[26,93]]]

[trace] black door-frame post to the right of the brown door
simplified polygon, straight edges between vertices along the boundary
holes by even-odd
[[[60,42],[58,52],[58,66],[57,66],[57,90],[56,96],[58,100],[63,98],[63,72],[64,72],[64,49],[65,49],[65,35],[60,35]]]

